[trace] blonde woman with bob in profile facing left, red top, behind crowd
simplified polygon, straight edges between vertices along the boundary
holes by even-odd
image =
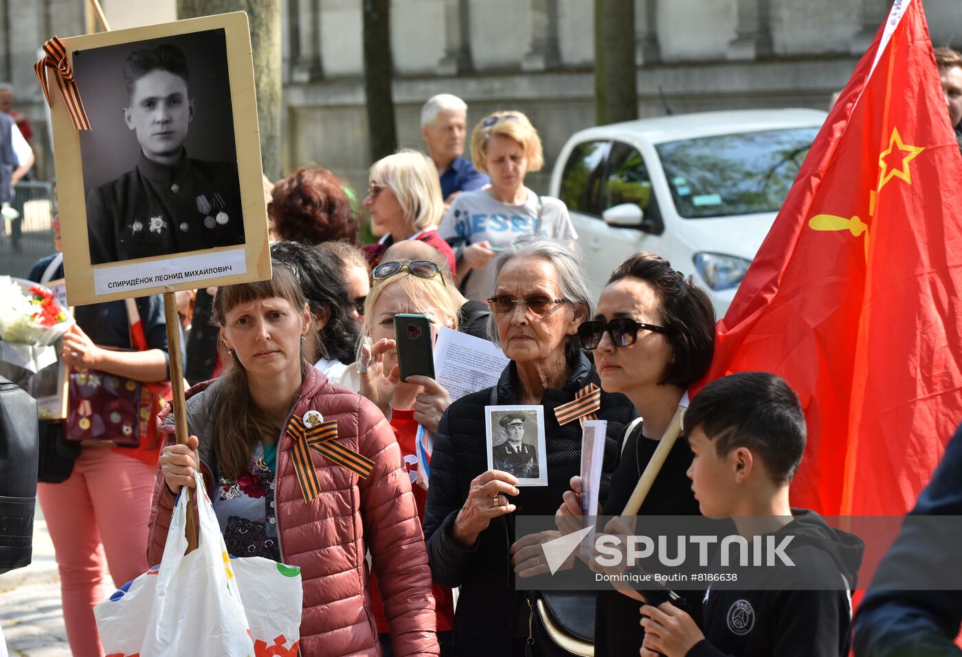
[[[454,268],[454,252],[438,237],[444,214],[438,169],[426,155],[402,149],[372,164],[364,205],[370,232],[381,238],[364,247],[371,266],[395,241],[421,240],[441,251]]]

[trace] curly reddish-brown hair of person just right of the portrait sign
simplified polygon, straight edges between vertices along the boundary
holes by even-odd
[[[302,241],[358,240],[357,215],[347,182],[324,168],[301,167],[277,181],[267,203],[270,239]]]

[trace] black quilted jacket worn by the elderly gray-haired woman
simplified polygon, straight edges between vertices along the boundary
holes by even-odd
[[[424,507],[424,537],[434,581],[461,587],[454,617],[456,655],[505,655],[512,640],[527,628],[516,627],[523,594],[515,591],[511,545],[515,542],[515,516],[553,516],[569,490],[570,478],[581,467],[581,426],[577,421],[559,426],[552,409],[574,399],[590,383],[600,386],[597,373],[580,352],[570,360],[572,373],[562,389],[544,392],[544,434],[548,485],[521,488],[512,501],[513,515],[495,518],[477,543],[463,547],[451,535],[468,499],[471,480],[488,469],[484,407],[491,404],[492,389],[465,395],[448,407],[441,420],[431,455],[431,478]],[[517,374],[510,363],[496,387],[496,403],[518,403]],[[602,470],[610,474],[618,464],[620,438],[633,416],[627,397],[601,393],[598,419],[608,420]],[[602,496],[607,487],[602,486]],[[526,612],[525,612],[526,614]]]

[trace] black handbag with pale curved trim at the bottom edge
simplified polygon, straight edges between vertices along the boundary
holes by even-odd
[[[530,591],[529,657],[595,657],[594,591]]]

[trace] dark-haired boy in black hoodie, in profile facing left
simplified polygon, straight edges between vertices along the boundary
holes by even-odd
[[[772,536],[774,544],[791,537],[784,551],[795,566],[742,568],[737,585],[710,586],[700,628],[669,602],[642,607],[642,657],[848,655],[850,592],[864,545],[815,512],[789,506],[805,450],[795,392],[767,372],[723,377],[697,394],[685,430],[695,455],[688,476],[702,515],[731,517],[749,544],[758,536]],[[837,583],[835,590],[803,590],[816,588],[814,576],[818,588]]]

